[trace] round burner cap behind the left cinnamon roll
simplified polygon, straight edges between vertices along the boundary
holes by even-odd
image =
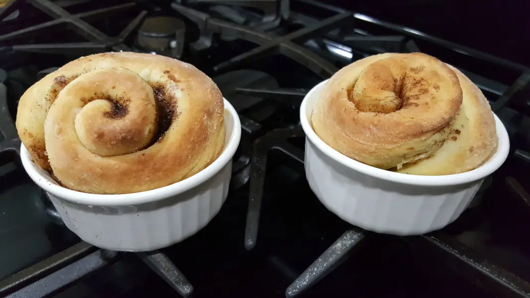
[[[172,16],[147,17],[138,29],[137,47],[145,52],[180,58],[184,50],[186,27]]]

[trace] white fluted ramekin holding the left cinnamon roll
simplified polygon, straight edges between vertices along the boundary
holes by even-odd
[[[172,185],[124,195],[94,195],[59,186],[21,146],[22,164],[50,195],[68,229],[96,247],[151,251],[197,233],[219,212],[232,175],[232,157],[241,138],[237,112],[225,100],[223,153],[206,169]]]

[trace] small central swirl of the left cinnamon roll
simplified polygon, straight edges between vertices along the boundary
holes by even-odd
[[[126,68],[106,68],[82,75],[61,93],[64,104],[78,110],[77,137],[100,156],[142,150],[157,129],[153,90],[138,74]],[[75,100],[72,100],[74,99]]]

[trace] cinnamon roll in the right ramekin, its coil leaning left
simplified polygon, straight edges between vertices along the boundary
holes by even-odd
[[[482,92],[456,68],[421,54],[381,54],[334,74],[316,102],[315,133],[351,159],[401,173],[470,171],[497,146]]]

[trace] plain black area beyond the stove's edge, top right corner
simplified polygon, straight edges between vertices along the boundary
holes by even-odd
[[[530,1],[324,0],[530,66]]]

